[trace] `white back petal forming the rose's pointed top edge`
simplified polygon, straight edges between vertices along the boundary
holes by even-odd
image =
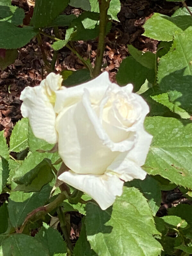
[[[118,87],[118,85],[110,82],[109,74],[106,71],[89,82],[66,88],[64,91],[58,91],[56,92],[55,112],[59,113],[63,107],[81,101],[84,89],[88,90],[92,103],[97,104],[111,85]]]

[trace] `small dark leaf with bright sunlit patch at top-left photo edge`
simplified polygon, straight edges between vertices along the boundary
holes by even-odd
[[[1,6],[0,22],[7,21],[15,26],[22,25],[25,17],[24,10],[16,6]]]

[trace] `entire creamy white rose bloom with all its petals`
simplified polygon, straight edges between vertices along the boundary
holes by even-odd
[[[58,179],[91,196],[106,209],[123,191],[124,181],[144,180],[152,136],[144,130],[149,107],[133,85],[111,83],[107,72],[70,88],[50,73],[39,86],[26,87],[21,111],[32,131],[48,143],[69,171]]]

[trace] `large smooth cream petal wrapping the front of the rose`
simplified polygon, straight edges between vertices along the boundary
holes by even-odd
[[[103,145],[82,102],[61,111],[56,119],[58,153],[77,173],[103,174],[119,152]]]

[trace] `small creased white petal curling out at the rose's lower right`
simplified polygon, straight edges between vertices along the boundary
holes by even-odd
[[[107,172],[115,173],[124,181],[144,180],[147,174],[137,163],[131,161],[125,153],[118,155],[107,168]]]

